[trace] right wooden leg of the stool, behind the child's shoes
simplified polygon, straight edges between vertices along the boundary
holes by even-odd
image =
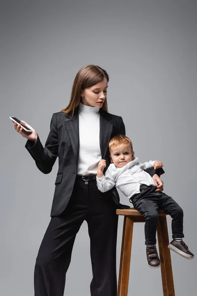
[[[163,292],[164,296],[175,296],[170,250],[167,248],[169,238],[166,217],[160,216],[159,221],[157,234],[161,260]]]

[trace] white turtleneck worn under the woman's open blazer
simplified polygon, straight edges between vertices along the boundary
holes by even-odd
[[[99,108],[79,103],[79,160],[77,175],[97,175],[101,159],[99,131]]]

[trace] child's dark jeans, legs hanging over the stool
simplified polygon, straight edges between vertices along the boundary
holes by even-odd
[[[140,193],[130,198],[133,207],[145,217],[145,245],[156,244],[158,210],[164,210],[172,218],[172,238],[182,238],[183,210],[164,192],[155,192],[154,186],[140,185]]]

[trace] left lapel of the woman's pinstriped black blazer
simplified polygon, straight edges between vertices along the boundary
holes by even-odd
[[[66,131],[68,133],[70,143],[72,145],[72,149],[76,158],[76,163],[78,163],[79,157],[79,116],[78,111],[74,112],[72,118],[70,118],[71,114],[66,114]]]

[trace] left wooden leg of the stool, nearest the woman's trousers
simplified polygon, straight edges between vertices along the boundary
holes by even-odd
[[[133,221],[130,217],[124,219],[123,238],[118,280],[118,296],[128,296],[129,272],[131,260]]]

